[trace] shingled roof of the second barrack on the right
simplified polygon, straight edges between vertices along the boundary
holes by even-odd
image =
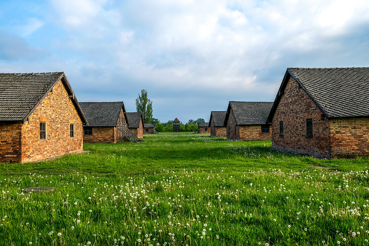
[[[232,109],[239,126],[264,125],[272,106],[273,101],[230,101],[227,115]]]

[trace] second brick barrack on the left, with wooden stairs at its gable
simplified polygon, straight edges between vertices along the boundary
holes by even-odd
[[[128,128],[122,101],[88,101],[79,104],[89,122],[88,126],[84,126],[84,142],[115,143],[124,140],[124,131]]]

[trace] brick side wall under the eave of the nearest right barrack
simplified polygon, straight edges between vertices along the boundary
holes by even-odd
[[[331,157],[369,156],[369,118],[331,119]]]

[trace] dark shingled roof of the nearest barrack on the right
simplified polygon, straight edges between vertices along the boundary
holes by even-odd
[[[288,68],[328,117],[369,116],[369,68]]]

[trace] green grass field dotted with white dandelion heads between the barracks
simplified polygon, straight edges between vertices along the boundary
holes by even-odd
[[[369,245],[369,158],[160,133],[0,164],[0,245]],[[52,186],[53,193],[24,188]]]

